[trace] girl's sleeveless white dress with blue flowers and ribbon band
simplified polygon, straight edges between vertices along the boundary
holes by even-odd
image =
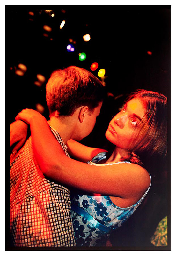
[[[99,153],[88,164],[96,164],[106,159],[106,152]],[[130,162],[119,162],[121,164]],[[101,164],[107,165],[107,164]],[[151,179],[151,177],[150,177]],[[151,182],[150,182],[151,186]],[[150,187],[149,187],[150,188]],[[71,217],[77,246],[103,246],[113,230],[119,228],[141,204],[143,197],[134,205],[121,208],[109,196],[71,195]]]

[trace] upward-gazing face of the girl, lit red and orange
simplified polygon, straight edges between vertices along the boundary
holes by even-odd
[[[119,148],[130,150],[130,143],[135,138],[135,130],[138,129],[144,115],[142,100],[140,98],[129,100],[109,123],[105,134],[107,140]]]

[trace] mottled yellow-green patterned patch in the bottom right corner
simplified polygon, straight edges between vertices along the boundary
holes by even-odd
[[[151,243],[155,246],[167,246],[167,216],[159,222]]]

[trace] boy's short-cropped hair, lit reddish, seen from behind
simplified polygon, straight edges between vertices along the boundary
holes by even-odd
[[[105,87],[100,80],[84,68],[70,66],[55,70],[46,85],[46,100],[50,114],[71,116],[80,106],[90,110],[103,101]]]

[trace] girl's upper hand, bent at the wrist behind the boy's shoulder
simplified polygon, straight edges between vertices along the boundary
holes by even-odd
[[[36,110],[33,109],[23,109],[16,117],[15,120],[23,120],[25,121],[27,124],[31,124],[32,121],[42,121],[45,120],[45,117],[42,116],[39,112],[37,112]]]

